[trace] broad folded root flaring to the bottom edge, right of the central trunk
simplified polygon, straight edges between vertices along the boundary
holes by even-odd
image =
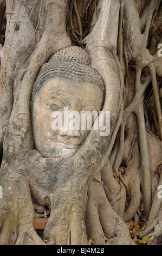
[[[127,225],[114,212],[102,183],[96,180],[89,186],[86,220],[88,239],[94,236],[95,245],[132,245]]]

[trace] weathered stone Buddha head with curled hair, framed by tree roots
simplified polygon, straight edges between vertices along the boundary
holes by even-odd
[[[103,102],[103,81],[90,66],[87,52],[70,46],[55,53],[42,66],[31,93],[31,120],[37,151],[48,158],[73,156],[90,130],[82,129],[81,119],[76,129],[76,119],[74,122],[68,114],[76,113],[78,119],[83,112],[99,113]],[[61,129],[59,125],[58,129],[53,128],[56,116],[62,119],[57,119],[57,123],[62,124]],[[72,119],[73,129],[70,129]]]

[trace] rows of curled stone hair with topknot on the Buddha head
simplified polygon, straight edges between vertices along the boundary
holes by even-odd
[[[77,82],[94,83],[104,89],[101,76],[90,66],[90,59],[85,50],[77,46],[64,48],[53,54],[43,64],[31,92],[31,103],[42,85],[53,77],[63,77]]]

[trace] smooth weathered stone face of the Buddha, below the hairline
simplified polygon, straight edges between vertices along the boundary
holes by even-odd
[[[73,156],[88,136],[89,130],[53,129],[53,113],[59,111],[64,120],[64,109],[101,111],[103,90],[96,84],[76,82],[67,78],[51,78],[37,92],[32,110],[35,148],[48,158]],[[70,119],[68,119],[70,122]],[[81,123],[81,122],[80,122]]]

